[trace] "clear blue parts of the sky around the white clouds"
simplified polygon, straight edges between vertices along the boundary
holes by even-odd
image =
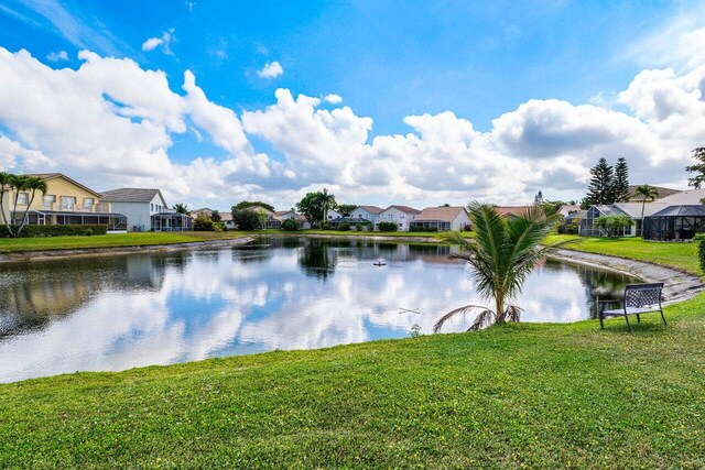
[[[372,118],[370,142],[412,132],[405,117],[444,111],[488,133],[494,119],[532,99],[625,111],[628,106],[612,98],[641,70],[673,65],[684,72],[677,63],[649,64],[639,44],[683,23],[691,11],[697,14],[680,33],[701,26],[702,8],[688,2],[567,0],[0,0],[0,46],[11,53],[28,50],[53,69],[78,68],[83,50],[129,58],[142,69],[164,70],[178,95],[184,95],[183,74],[191,70],[210,101],[237,116],[274,105],[279,88],[294,97],[336,94],[341,105],[319,107],[347,106],[357,117]],[[166,47],[162,43],[144,50],[145,41],[165,33]],[[68,59],[48,58],[62,51]],[[258,72],[272,62],[283,73],[261,77]],[[189,122],[188,116],[184,119]],[[9,139],[22,141],[11,119],[0,119],[0,124]],[[262,132],[248,134],[256,152],[296,171],[281,144]],[[220,161],[231,153],[197,135],[196,127],[194,132],[172,133],[171,162],[185,165],[197,156]],[[51,149],[34,150],[52,157]],[[310,183],[328,183],[324,179]],[[289,188],[294,189],[301,188]],[[412,193],[406,200],[429,201],[427,195]],[[556,193],[579,196],[577,187],[567,193],[556,186]],[[284,203],[291,194],[278,197]],[[380,196],[375,198],[382,203]]]

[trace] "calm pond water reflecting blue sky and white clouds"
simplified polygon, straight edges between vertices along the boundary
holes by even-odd
[[[451,247],[304,238],[210,251],[0,265],[0,381],[431,334],[487,304]],[[383,260],[387,265],[375,266]],[[522,321],[594,316],[626,276],[546,262]],[[413,311],[408,311],[413,310]],[[473,316],[446,331],[467,329]]]

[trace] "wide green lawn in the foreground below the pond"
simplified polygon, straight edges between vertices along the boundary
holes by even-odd
[[[0,385],[0,467],[704,468],[704,311]]]

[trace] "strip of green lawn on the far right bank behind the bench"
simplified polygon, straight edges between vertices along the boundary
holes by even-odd
[[[660,243],[643,241],[640,238],[611,239],[577,236],[554,236],[549,237],[547,241],[553,242],[565,239],[578,239],[578,243],[570,247],[572,250],[649,261],[703,275],[697,262],[696,243]]]

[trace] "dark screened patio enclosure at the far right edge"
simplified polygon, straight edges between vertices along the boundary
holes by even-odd
[[[705,232],[705,206],[671,206],[647,217],[644,240],[691,240]]]

